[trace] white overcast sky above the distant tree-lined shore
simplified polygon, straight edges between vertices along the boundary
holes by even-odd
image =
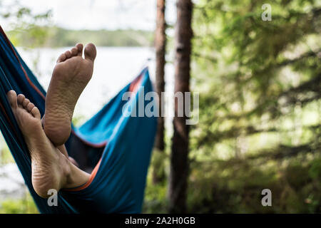
[[[54,24],[64,28],[155,28],[156,0],[27,0],[20,3],[34,14],[51,9]],[[175,21],[175,0],[168,0],[166,13],[169,22]],[[0,24],[9,29],[8,21],[0,19]]]

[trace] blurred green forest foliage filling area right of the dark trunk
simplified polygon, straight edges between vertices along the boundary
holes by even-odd
[[[194,11],[203,93],[191,211],[195,202],[200,212],[321,210],[320,4],[271,1],[272,21],[263,21],[264,3],[204,0]],[[272,207],[260,204],[265,188]]]

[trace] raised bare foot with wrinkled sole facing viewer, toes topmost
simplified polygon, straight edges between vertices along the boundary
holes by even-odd
[[[93,74],[96,47],[88,43],[82,58],[83,45],[59,56],[46,95],[44,131],[54,145],[63,145],[71,133],[73,109]]]

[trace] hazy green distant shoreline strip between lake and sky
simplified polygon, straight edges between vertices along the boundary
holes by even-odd
[[[61,48],[75,43],[95,43],[106,47],[151,47],[153,31],[142,30],[70,30],[56,26],[31,26],[8,31],[15,46],[31,48]]]

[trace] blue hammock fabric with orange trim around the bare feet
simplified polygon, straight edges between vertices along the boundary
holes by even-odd
[[[85,185],[59,191],[58,206],[50,207],[48,200],[36,195],[31,185],[29,151],[6,99],[11,89],[26,95],[44,115],[46,92],[0,26],[0,129],[39,212],[141,212],[157,119],[123,115],[123,107],[129,113],[137,112],[138,98],[144,91],[153,90],[147,68],[93,118],[80,128],[73,127],[66,142],[68,154],[81,169],[92,172]],[[123,100],[127,91],[133,95]]]

